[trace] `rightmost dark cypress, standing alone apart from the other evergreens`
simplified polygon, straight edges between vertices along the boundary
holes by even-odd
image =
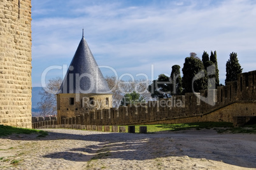
[[[241,65],[238,62],[238,54],[232,52],[230,55],[229,60],[226,63],[226,79],[225,84],[229,81],[237,81],[238,74],[240,74],[243,69],[241,69]]]

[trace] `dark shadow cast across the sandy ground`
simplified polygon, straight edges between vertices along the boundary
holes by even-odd
[[[47,129],[45,129],[47,131]],[[51,131],[51,130],[49,130]],[[52,130],[54,131],[54,129]],[[72,161],[88,161],[88,154],[94,154],[92,159],[123,159],[148,160],[159,157],[205,158],[223,161],[227,164],[241,167],[256,168],[255,140],[236,139],[241,134],[197,134],[167,133],[167,134],[129,134],[129,133],[97,133],[72,134],[49,132],[43,138],[28,138],[24,134],[21,138],[15,135],[1,138],[10,140],[82,140],[97,141],[98,145],[83,148],[71,148],[65,152],[46,154],[43,157],[51,159],[65,159]],[[19,134],[22,135],[22,134]],[[246,134],[250,135],[250,134]],[[255,134],[252,134],[255,138]],[[232,143],[232,145],[230,145]],[[254,143],[254,145],[253,145]],[[72,146],[71,146],[72,147]],[[79,152],[79,153],[75,153]],[[75,158],[75,159],[74,159]]]

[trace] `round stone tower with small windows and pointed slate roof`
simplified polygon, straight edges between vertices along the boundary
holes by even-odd
[[[57,94],[57,121],[111,107],[111,90],[82,37]]]

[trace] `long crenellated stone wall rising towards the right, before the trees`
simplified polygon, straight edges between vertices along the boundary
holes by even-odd
[[[70,117],[61,117],[60,122],[48,121],[47,124],[62,125],[129,125],[129,124],[166,124],[186,122],[233,122],[236,116],[256,116],[256,71],[238,75],[238,81],[228,82],[213,90],[200,93],[186,93],[184,96],[160,101],[149,101],[129,107],[90,110]],[[215,105],[209,105],[197,96],[212,95]],[[42,120],[42,119],[41,119]],[[34,128],[43,126],[36,122]],[[62,126],[61,126],[62,127]],[[65,126],[63,126],[65,127]],[[62,127],[62,128],[63,128]]]

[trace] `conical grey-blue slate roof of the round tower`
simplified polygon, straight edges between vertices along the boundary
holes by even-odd
[[[76,49],[59,93],[111,94],[84,37]]]

